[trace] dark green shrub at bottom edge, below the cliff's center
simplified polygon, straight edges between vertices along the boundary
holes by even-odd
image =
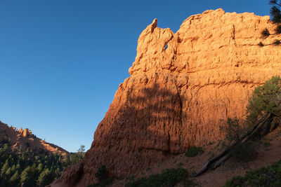
[[[179,167],[177,169],[166,169],[162,174],[152,174],[147,178],[143,177],[132,183],[126,183],[126,187],[154,187],[154,186],[175,186],[183,183],[184,186],[195,186],[195,183],[188,179],[188,170]]]

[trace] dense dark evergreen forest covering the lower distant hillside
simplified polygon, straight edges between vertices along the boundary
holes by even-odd
[[[15,150],[11,140],[4,137],[0,142],[0,186],[46,186],[58,179],[67,165],[81,160],[84,153],[72,153],[63,158],[60,153],[45,150]]]

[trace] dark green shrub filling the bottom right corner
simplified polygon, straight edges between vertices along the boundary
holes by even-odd
[[[281,160],[268,167],[249,170],[245,176],[235,176],[224,185],[236,186],[281,186]]]

